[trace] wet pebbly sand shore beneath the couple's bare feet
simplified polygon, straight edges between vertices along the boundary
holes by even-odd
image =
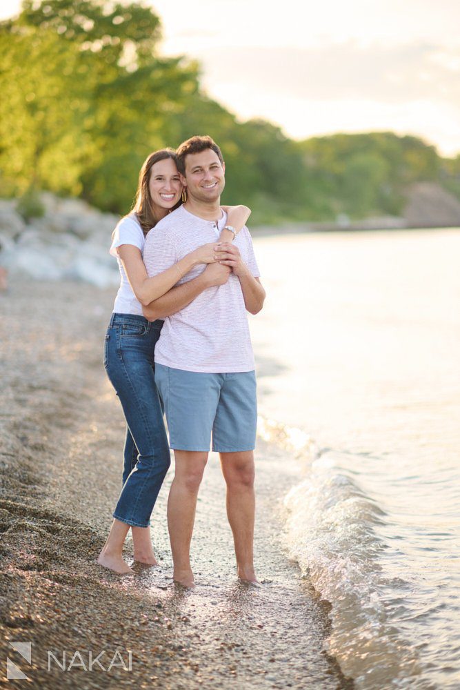
[[[112,299],[113,290],[17,278],[0,295],[2,678],[8,655],[41,689],[352,688],[324,651],[328,604],[283,549],[281,498],[298,470],[279,449],[257,449],[259,588],[236,578],[213,454],[192,542],[197,589],[171,580],[172,471],[152,517],[161,566],[120,578],[94,563],[121,481],[123,417],[101,364]],[[32,664],[12,641],[32,642]],[[64,650],[72,667],[52,661],[48,671],[48,651],[62,663]],[[104,652],[102,668],[85,670],[88,651]]]

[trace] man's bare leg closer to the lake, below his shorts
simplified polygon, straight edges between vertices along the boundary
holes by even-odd
[[[254,573],[254,453],[219,453],[227,484],[227,515],[233,532],[240,580],[257,582]]]

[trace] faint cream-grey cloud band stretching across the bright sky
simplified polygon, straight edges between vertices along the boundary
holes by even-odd
[[[279,97],[381,103],[441,100],[460,107],[460,48],[447,50],[434,43],[217,48],[199,57],[210,88],[239,83]]]

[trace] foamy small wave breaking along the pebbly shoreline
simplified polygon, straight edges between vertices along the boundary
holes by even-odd
[[[363,493],[339,453],[320,454],[308,435],[275,422],[261,420],[259,433],[303,455],[308,466],[306,480],[286,496],[286,536],[302,573],[332,604],[328,652],[358,688],[432,687],[417,678],[417,658],[386,613],[388,591],[394,595],[407,583],[386,580],[379,564],[386,550],[376,532],[385,524],[383,510]]]

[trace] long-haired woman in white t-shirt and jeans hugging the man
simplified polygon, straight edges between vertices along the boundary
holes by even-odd
[[[154,346],[163,321],[148,322],[142,306],[168,292],[197,264],[219,260],[219,244],[204,244],[177,264],[149,278],[142,261],[145,238],[157,222],[181,204],[183,186],[172,149],[156,151],[139,174],[132,212],[121,219],[110,253],[117,258],[121,284],[106,334],[104,366],[126,417],[123,488],[114,522],[97,562],[117,573],[132,569],[123,560],[123,544],[132,529],[134,560],[156,565],[150,541],[150,514],[170,466],[163,412],[154,382]],[[232,230],[219,237],[231,242],[250,215],[246,206],[224,207]]]

